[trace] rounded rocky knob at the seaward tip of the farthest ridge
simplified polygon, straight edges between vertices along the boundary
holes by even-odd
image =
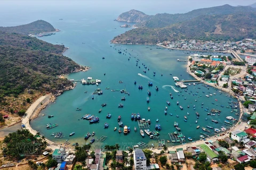
[[[137,10],[130,10],[128,12],[120,14],[118,18],[115,19],[115,21],[142,23],[150,19],[150,17],[150,15],[147,15],[143,12]]]

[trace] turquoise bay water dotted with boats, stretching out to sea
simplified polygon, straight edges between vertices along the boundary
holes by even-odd
[[[96,15],[94,19],[55,21],[53,24],[61,32],[56,33],[54,36],[40,38],[53,44],[63,43],[66,47],[70,47],[64,55],[70,57],[78,64],[91,67],[87,72],[69,74],[68,79],[81,80],[92,77],[93,79],[100,79],[102,83],[97,87],[95,85],[83,86],[78,82],[75,89],[64,92],[57,98],[55,104],[52,103],[47,106],[36,120],[31,121],[33,129],[44,134],[46,138],[58,143],[63,143],[68,139],[71,143],[78,142],[79,144],[89,142],[92,137],[88,141],[85,141],[84,135],[87,132],[92,133],[94,131],[95,139],[98,139],[101,135],[108,137],[102,143],[95,142],[95,146],[119,143],[125,149],[126,146],[132,146],[140,141],[148,144],[158,142],[157,140],[150,139],[146,134],[145,138],[142,138],[138,130],[137,132],[133,131],[134,126],[137,129],[139,129],[139,126],[137,121],[131,121],[130,117],[132,113],[140,113],[142,118],[146,120],[150,119],[151,131],[155,130],[155,122],[158,118],[158,123],[162,126],[162,130],[159,131],[159,139],[165,140],[170,140],[168,133],[175,131],[173,126],[174,121],[179,123],[181,132],[186,137],[198,140],[199,135],[201,135],[200,132],[203,131],[202,129],[196,129],[197,125],[201,127],[210,125],[214,128],[220,128],[224,125],[226,116],[238,118],[234,113],[230,113],[230,108],[226,108],[231,98],[225,92],[220,93],[212,87],[207,89],[202,86],[203,84],[188,86],[187,92],[185,92],[185,89],[174,86],[173,76],[184,80],[193,80],[193,77],[186,72],[186,62],[177,62],[178,58],[180,60],[187,60],[187,52],[156,49],[157,46],[110,44],[109,41],[111,38],[129,30],[119,28],[119,25],[124,23],[114,22],[112,19],[113,17],[111,18],[110,16],[102,19]],[[122,53],[126,52],[126,55],[118,54],[118,50],[121,50]],[[105,60],[102,60],[103,56]],[[138,59],[138,66],[136,66]],[[149,68],[147,73],[143,73],[143,70],[146,69],[143,69],[142,63]],[[139,66],[141,67],[140,69]],[[155,77],[153,77],[153,71],[156,72]],[[103,75],[104,73],[106,75]],[[122,80],[123,83],[119,83],[119,80]],[[137,85],[134,85],[134,80],[137,81]],[[148,87],[148,81],[153,82],[153,87]],[[143,90],[138,89],[139,84],[143,85]],[[155,86],[159,87],[159,91],[155,90]],[[106,90],[106,87],[110,89]],[[91,94],[97,88],[103,90],[103,95],[94,95],[94,100],[92,100]],[[111,89],[126,89],[130,92],[130,96],[125,95],[126,100],[122,101],[123,108],[118,108],[117,106],[121,103],[121,97],[124,94],[118,91],[111,92]],[[146,98],[148,97],[147,90],[151,91],[149,103],[146,102]],[[85,94],[84,91],[87,91],[87,93]],[[203,91],[205,94],[203,94]],[[170,98],[170,92],[173,95],[173,99]],[[217,95],[209,98],[205,97],[209,92],[212,94],[215,92]],[[196,93],[198,95],[193,96]],[[185,97],[186,100],[184,99]],[[215,101],[215,99],[218,101]],[[167,106],[166,100],[171,102],[170,106]],[[179,100],[180,106],[183,107],[183,111],[176,105],[177,100]],[[203,108],[201,108],[202,102],[204,103]],[[98,113],[103,103],[107,103],[107,106],[102,108],[101,113]],[[220,107],[221,104],[225,107]],[[190,105],[190,107],[187,108],[187,105]],[[195,111],[193,110],[193,105],[196,105]],[[168,107],[167,115],[164,115],[165,106]],[[82,111],[76,111],[77,107],[82,108]],[[150,107],[149,112],[148,107]],[[217,108],[222,112],[220,116],[207,116],[207,112],[204,111],[206,107],[209,109]],[[190,115],[187,115],[187,112]],[[200,114],[198,119],[196,118],[195,112]],[[49,119],[47,116],[42,116],[43,113],[54,115],[54,117]],[[109,120],[106,118],[107,113],[112,115]],[[170,116],[169,113],[172,113],[173,116]],[[81,120],[81,117],[85,114],[98,116],[100,122],[89,124],[88,121]],[[117,131],[114,131],[115,127],[118,129],[118,115],[122,116],[121,121],[124,125],[131,127],[130,134],[124,135],[123,133],[119,134]],[[179,115],[179,117],[175,115]],[[185,115],[188,117],[187,122],[183,121],[183,116]],[[208,118],[207,121],[205,121],[206,117]],[[220,123],[215,124],[211,122],[212,119]],[[197,124],[195,123],[196,120],[198,120]],[[109,123],[108,129],[103,129],[105,122]],[[57,123],[59,126],[47,130],[46,124],[48,123]],[[50,136],[52,132],[62,132],[65,137],[55,139]],[[71,132],[75,132],[75,135],[69,137],[69,133]],[[179,144],[168,143],[168,145]]]

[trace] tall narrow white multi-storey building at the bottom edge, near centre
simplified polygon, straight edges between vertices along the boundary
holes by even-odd
[[[133,160],[135,169],[147,169],[147,158],[141,149],[136,149],[133,152]]]

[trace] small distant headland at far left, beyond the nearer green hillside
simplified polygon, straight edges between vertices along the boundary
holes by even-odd
[[[0,31],[30,35],[31,33],[52,32],[55,31],[55,29],[49,22],[37,20],[35,22],[15,27],[0,27]]]

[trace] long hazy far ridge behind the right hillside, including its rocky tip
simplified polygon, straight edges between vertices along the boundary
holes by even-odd
[[[122,13],[115,21],[137,22],[139,27],[162,28],[168,25],[189,21],[200,15],[228,15],[244,12],[256,12],[256,8],[251,6],[230,6],[228,4],[209,8],[193,10],[185,14],[156,14],[146,15],[137,10]]]

